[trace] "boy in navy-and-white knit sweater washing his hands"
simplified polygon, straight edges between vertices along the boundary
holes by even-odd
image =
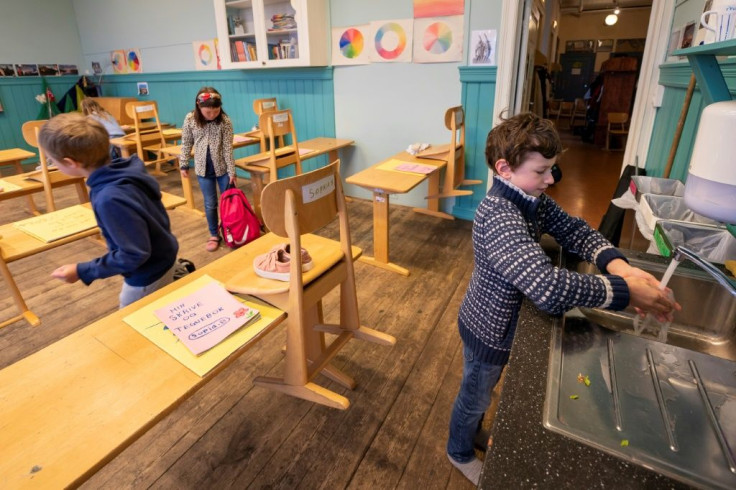
[[[482,463],[473,439],[508,362],[525,297],[555,315],[576,306],[632,305],[665,318],[680,308],[654,276],[630,266],[603,235],[544,194],[560,153],[553,123],[531,113],[506,119],[486,141],[493,185],[473,220],[473,274],[458,313],[463,378],[447,442],[450,462],[476,485]],[[555,267],[539,244],[543,233],[603,273]]]

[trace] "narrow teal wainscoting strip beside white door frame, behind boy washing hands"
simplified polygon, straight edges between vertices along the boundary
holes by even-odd
[[[475,209],[486,195],[488,165],[486,165],[486,137],[493,124],[493,99],[496,93],[495,66],[460,67],[462,105],[465,109],[465,178],[482,180],[469,186],[470,196],[455,198],[452,214],[472,220]]]

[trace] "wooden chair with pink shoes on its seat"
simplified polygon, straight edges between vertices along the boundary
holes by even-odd
[[[353,389],[355,381],[330,364],[340,348],[353,337],[383,345],[394,345],[396,339],[360,325],[353,270],[353,260],[360,251],[350,242],[339,168],[340,161],[336,160],[306,174],[272,181],[263,189],[266,226],[272,234],[287,238],[292,251],[289,282],[264,279],[255,274],[251,264],[243,264],[248,270],[234,276],[226,287],[233,292],[257,295],[287,312],[284,375],[282,378],[259,377],[255,384],[346,409],[350,405],[347,398],[312,380],[321,373]],[[339,222],[339,241],[310,234],[335,219]],[[264,248],[260,253],[268,252],[273,240],[264,238],[250,246],[263,240]],[[302,246],[314,262],[314,268],[308,272],[302,272],[302,258],[298,252]],[[340,323],[325,324],[322,297],[337,286],[340,286]],[[337,337],[326,345],[325,333]]]

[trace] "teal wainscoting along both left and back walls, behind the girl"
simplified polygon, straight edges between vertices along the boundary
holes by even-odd
[[[47,81],[57,100],[79,77],[49,77]],[[97,80],[97,79],[95,79]],[[149,95],[138,96],[138,82],[147,82]],[[215,87],[223,97],[223,108],[233,121],[236,132],[248,131],[256,124],[253,100],[276,97],[280,108],[294,114],[299,141],[318,136],[335,137],[335,97],[332,68],[297,68],[280,70],[222,70],[175,73],[139,73],[105,75],[98,80],[106,97],[137,97],[155,100],[162,121],[180,127],[187,112],[194,108],[197,91],[206,85]],[[41,78],[0,78],[0,149],[26,148],[21,134],[23,122],[35,119],[41,109],[35,96],[41,93]],[[256,151],[255,146],[236,150],[236,158]],[[327,157],[304,162],[304,170],[314,170],[327,163]]]

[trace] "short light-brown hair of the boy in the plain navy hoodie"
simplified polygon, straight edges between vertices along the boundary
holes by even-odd
[[[55,160],[71,158],[84,168],[97,168],[110,161],[110,136],[105,127],[78,112],[59,114],[38,133],[38,145]]]

